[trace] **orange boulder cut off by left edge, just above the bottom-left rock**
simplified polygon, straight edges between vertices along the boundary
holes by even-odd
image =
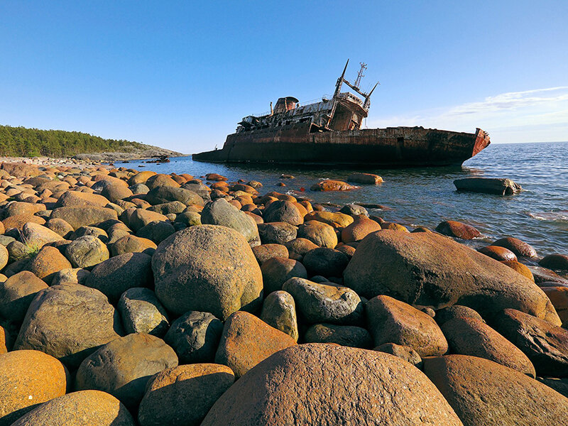
[[[69,386],[69,374],[57,359],[40,351],[0,354],[0,425],[60,395]]]

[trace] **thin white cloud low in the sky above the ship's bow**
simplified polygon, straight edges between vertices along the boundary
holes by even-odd
[[[424,126],[454,131],[481,127],[492,141],[568,141],[568,86],[507,92],[448,109],[369,121],[368,127]],[[519,129],[523,128],[523,133]]]

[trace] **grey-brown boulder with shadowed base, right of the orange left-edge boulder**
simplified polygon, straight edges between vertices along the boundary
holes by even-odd
[[[170,346],[151,334],[129,334],[101,346],[77,370],[78,391],[110,393],[129,408],[140,403],[146,383],[155,373],[178,366]]]

